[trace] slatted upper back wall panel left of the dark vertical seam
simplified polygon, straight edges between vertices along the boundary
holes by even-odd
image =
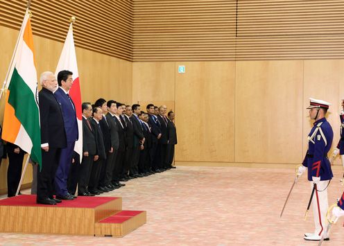
[[[134,0],[134,61],[234,58],[235,3]]]

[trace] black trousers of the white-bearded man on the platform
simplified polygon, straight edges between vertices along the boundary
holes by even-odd
[[[37,200],[53,198],[54,178],[60,161],[61,148],[42,150],[42,170],[37,173]],[[45,164],[45,165],[44,165]]]

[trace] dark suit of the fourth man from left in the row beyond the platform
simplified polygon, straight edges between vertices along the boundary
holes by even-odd
[[[117,158],[117,152],[119,149],[119,135],[118,135],[118,125],[114,121],[113,116],[110,113],[106,115],[106,121],[110,128],[111,136],[111,146],[114,149],[114,152],[107,154],[106,159],[106,169],[105,169],[105,185],[111,184],[112,174],[114,172],[114,165]]]

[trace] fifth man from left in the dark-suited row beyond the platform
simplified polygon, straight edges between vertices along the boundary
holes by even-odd
[[[112,116],[112,120],[116,122],[118,136],[119,136],[119,149],[117,150],[116,161],[114,162],[114,171],[112,173],[112,185],[116,187],[125,186],[125,184],[119,183],[123,172],[123,164],[126,158],[126,125],[121,116],[123,114],[123,103],[116,103],[117,110]]]

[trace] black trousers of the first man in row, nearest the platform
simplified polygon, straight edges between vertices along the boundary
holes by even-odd
[[[87,186],[89,184],[89,178],[91,177],[93,162],[94,155],[89,155],[88,157],[83,156],[78,174],[78,194],[88,192]]]

